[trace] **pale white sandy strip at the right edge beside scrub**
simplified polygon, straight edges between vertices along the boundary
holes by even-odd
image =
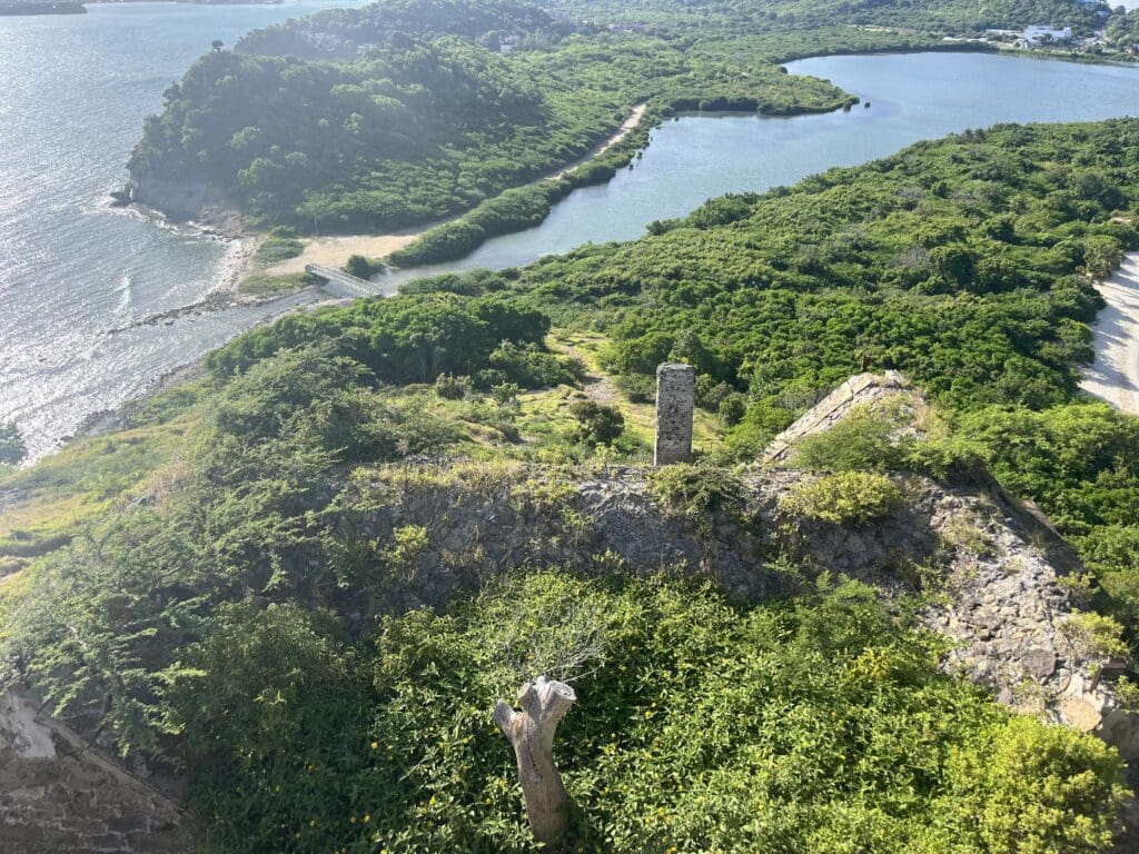
[[[1113,407],[1139,414],[1139,253],[1128,255],[1097,286],[1107,301],[1092,326],[1096,361],[1080,387]]]

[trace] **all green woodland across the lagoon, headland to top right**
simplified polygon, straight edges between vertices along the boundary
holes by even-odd
[[[557,17],[514,0],[327,10],[251,33],[235,54],[215,44],[166,92],[130,170],[139,197],[159,208],[181,204],[162,189],[173,180],[194,197],[230,199],[262,225],[380,232],[468,211],[392,255],[401,266],[435,263],[530,228],[574,188],[609,180],[677,110],[788,115],[850,102],[820,81],[780,74],[779,63],[983,50],[942,36],[1041,22],[1087,35],[1100,14],[1106,5],[1068,0],[983,9],[580,0]],[[1116,46],[1129,47],[1130,20],[1111,16]],[[589,153],[638,101],[649,113],[624,143],[559,180],[536,180]]]

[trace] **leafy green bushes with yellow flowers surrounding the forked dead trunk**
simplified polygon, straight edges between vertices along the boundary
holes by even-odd
[[[583,646],[554,748],[570,849],[1106,852],[1125,795],[1114,750],[940,673],[939,642],[857,584],[746,608],[528,573],[357,643],[295,607],[213,622],[177,708],[195,812],[229,852],[531,851],[490,709]]]

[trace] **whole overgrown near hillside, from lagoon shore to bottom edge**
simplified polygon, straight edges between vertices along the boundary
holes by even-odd
[[[1077,378],[1137,140],[972,131],[247,332],[0,479],[6,682],[185,772],[204,849],[528,849],[490,711],[547,671],[583,851],[1111,851],[1139,420]],[[666,360],[698,465],[650,469]],[[760,465],[867,361],[924,397]]]

